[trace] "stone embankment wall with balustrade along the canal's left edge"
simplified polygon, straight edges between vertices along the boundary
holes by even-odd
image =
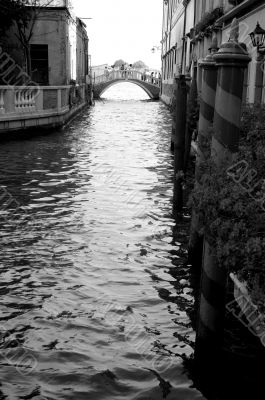
[[[85,84],[0,86],[0,140],[62,127],[90,102]]]

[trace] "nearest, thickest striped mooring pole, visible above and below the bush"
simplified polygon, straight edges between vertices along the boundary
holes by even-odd
[[[218,78],[214,113],[212,157],[217,166],[229,166],[238,151],[244,71],[251,58],[239,44],[234,19],[228,42],[214,55]],[[223,344],[227,273],[217,264],[215,249],[205,238],[195,360],[212,367]]]

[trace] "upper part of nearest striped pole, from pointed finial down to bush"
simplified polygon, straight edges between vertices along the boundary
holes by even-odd
[[[231,163],[238,152],[245,70],[251,61],[246,46],[238,42],[235,18],[230,38],[214,58],[218,67],[212,155],[217,165]]]

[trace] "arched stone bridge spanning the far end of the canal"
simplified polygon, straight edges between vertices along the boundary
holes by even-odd
[[[104,75],[100,75],[94,79],[94,99],[100,96],[111,86],[119,82],[131,82],[140,86],[151,99],[158,100],[160,95],[160,80],[152,78],[150,75],[143,74],[137,70],[113,70],[106,71]]]

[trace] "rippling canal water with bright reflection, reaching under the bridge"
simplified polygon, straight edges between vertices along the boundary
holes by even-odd
[[[2,400],[203,398],[170,114],[127,85],[0,146]]]

